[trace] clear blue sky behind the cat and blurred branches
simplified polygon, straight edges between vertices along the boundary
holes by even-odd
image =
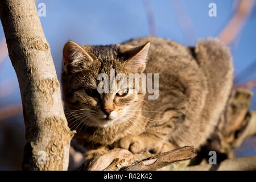
[[[172,0],[175,1],[175,0]],[[51,46],[51,52],[57,75],[61,72],[62,48],[65,42],[73,40],[79,44],[114,44],[127,39],[150,35],[146,10],[141,0],[108,0],[108,1],[68,1],[45,0],[38,1],[46,4],[46,17],[40,17],[44,33]],[[185,12],[193,24],[195,39],[217,36],[230,17],[233,15],[232,0],[184,0]],[[208,15],[208,5],[214,2],[217,5],[217,17]],[[151,9],[154,13],[157,36],[172,39],[188,44],[184,38],[174,7],[170,0],[151,0]],[[240,74],[256,59],[256,13],[255,7],[247,20],[237,44],[232,46],[236,84],[240,84],[256,77],[254,67]],[[0,39],[3,38],[0,26]],[[195,44],[189,43],[189,46]],[[1,81],[13,80],[16,92],[0,100],[0,105],[20,101],[18,81],[9,57],[1,63]],[[255,92],[256,89],[253,89]],[[256,99],[253,98],[251,108],[256,109]]]

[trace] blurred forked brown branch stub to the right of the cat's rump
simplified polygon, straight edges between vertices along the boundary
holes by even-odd
[[[221,151],[234,158],[233,148],[243,140],[256,134],[255,111],[248,111],[252,93],[247,89],[237,89],[230,100],[227,121],[220,133]]]

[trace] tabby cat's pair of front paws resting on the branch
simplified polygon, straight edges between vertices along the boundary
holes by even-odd
[[[119,140],[118,146],[116,147],[125,148],[134,154],[144,151],[151,151],[158,154],[177,148],[174,144],[151,135],[124,137]]]

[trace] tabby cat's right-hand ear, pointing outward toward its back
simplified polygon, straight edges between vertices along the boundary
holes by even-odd
[[[142,73],[146,68],[147,55],[150,48],[150,42],[142,46],[123,48],[122,53],[125,54],[127,59],[126,67],[131,71]]]

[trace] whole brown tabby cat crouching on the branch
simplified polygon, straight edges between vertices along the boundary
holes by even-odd
[[[110,76],[110,69],[126,76],[159,73],[158,98],[134,92],[134,85],[99,93],[97,77]],[[225,113],[233,86],[232,56],[217,39],[199,40],[195,47],[154,36],[108,46],[69,41],[61,82],[69,127],[92,155],[113,147],[133,153],[198,149]]]

